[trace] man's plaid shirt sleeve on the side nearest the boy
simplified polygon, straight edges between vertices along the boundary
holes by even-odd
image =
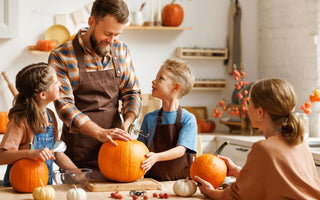
[[[120,98],[122,101],[122,113],[134,112],[139,116],[141,109],[141,89],[135,74],[130,51],[125,43],[117,43],[119,62],[121,65]]]

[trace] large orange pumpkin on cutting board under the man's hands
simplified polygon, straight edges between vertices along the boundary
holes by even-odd
[[[99,151],[98,164],[101,173],[109,180],[131,182],[143,177],[141,162],[149,153],[147,146],[138,141],[114,140],[118,146],[107,142]]]

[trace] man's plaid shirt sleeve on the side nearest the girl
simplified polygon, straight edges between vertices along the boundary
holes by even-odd
[[[77,87],[79,70],[71,42],[52,51],[48,63],[55,68],[61,83],[60,98],[54,102],[57,113],[64,124],[71,127],[72,132],[76,132],[89,121],[89,117],[74,102],[73,89]]]

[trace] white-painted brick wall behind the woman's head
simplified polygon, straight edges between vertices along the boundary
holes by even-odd
[[[313,90],[319,88],[318,4],[317,0],[258,3],[259,75],[288,80],[296,90],[299,112]],[[320,136],[319,105],[312,105],[312,110],[310,135]]]

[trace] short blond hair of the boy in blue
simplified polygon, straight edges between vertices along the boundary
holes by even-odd
[[[178,59],[167,59],[162,64],[160,70],[162,69],[171,72],[171,79],[174,83],[181,84],[180,98],[191,91],[194,85],[194,76],[190,66],[186,62]]]

